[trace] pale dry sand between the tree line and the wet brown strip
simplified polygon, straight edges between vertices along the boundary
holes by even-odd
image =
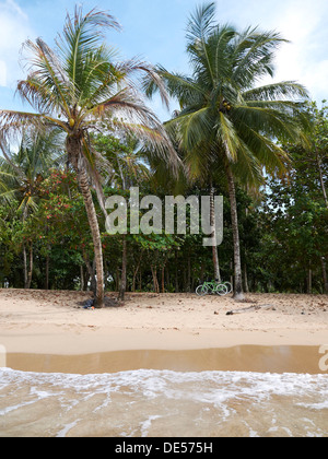
[[[128,350],[186,351],[328,345],[328,296],[128,294],[125,305],[85,310],[89,293],[0,290],[0,345],[9,353],[80,355]],[[115,295],[108,295],[114,304]],[[271,309],[226,316],[231,309]]]

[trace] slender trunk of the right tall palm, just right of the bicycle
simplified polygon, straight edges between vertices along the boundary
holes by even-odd
[[[238,229],[238,214],[237,214],[237,201],[236,201],[236,188],[233,177],[233,173],[229,164],[225,165],[227,184],[229,184],[229,198],[231,205],[231,220],[234,242],[234,270],[235,270],[235,282],[234,282],[234,299],[243,301],[243,278],[242,278],[242,261],[241,261],[241,240]]]

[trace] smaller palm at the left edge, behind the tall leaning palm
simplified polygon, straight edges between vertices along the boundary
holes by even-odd
[[[23,223],[38,209],[39,187],[47,170],[60,161],[62,139],[54,130],[47,136],[24,132],[17,153],[0,143],[0,202],[17,203],[16,212]],[[27,249],[28,248],[28,257]],[[27,262],[28,258],[28,262]],[[33,274],[33,243],[23,244],[24,287],[30,289]]]

